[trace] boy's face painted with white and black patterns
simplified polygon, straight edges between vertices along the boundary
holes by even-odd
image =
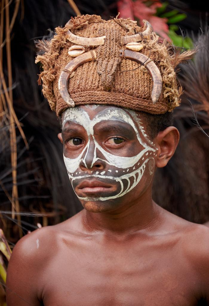
[[[64,112],[62,123],[64,162],[86,210],[116,210],[150,186],[157,149],[137,112],[76,106]]]

